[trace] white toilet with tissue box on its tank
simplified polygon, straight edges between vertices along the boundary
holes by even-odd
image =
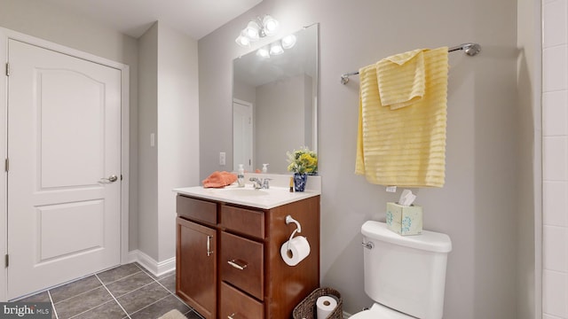
[[[400,236],[375,221],[361,233],[365,292],[375,304],[350,319],[442,318],[450,237],[428,230]]]

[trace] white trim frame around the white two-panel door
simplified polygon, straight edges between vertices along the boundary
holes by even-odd
[[[95,56],[91,53],[84,51],[78,51],[66,46],[51,43],[40,38],[36,38],[31,35],[21,34],[19,32],[0,27],[0,60],[2,60],[2,65],[0,68],[4,68],[4,63],[8,60],[8,48],[7,43],[9,39],[17,40],[23,43],[28,43],[31,45],[36,45],[51,51],[56,51],[62,54],[67,54],[75,58],[83,58],[84,60],[91,61],[103,66],[113,67],[121,71],[121,168],[123,180],[121,183],[121,255],[120,263],[127,263],[129,258],[129,180],[130,180],[130,66],[116,62],[107,58],[101,58]],[[2,74],[4,75],[4,70]],[[7,94],[6,87],[7,82],[6,77],[2,76],[0,79],[0,116],[4,116],[3,121],[0,121],[0,150],[4,150],[4,157],[6,152],[6,106],[7,106]],[[0,151],[3,152],[3,151]],[[0,158],[0,162],[1,162]],[[7,246],[7,208],[6,208],[6,183],[7,176],[4,172],[2,181],[0,181],[0,252],[2,261],[4,263],[4,254],[8,252]],[[0,265],[0,267],[3,267]],[[3,267],[4,268],[4,267]],[[5,301],[7,298],[8,287],[7,287],[7,268],[4,268],[4,274],[0,276],[0,302]]]

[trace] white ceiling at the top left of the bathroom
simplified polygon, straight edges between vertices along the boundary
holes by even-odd
[[[43,0],[138,38],[158,20],[199,40],[263,0]]]

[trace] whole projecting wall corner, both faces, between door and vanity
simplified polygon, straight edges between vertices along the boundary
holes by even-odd
[[[139,56],[138,249],[167,261],[176,255],[171,190],[199,183],[197,41],[156,22],[140,37]]]

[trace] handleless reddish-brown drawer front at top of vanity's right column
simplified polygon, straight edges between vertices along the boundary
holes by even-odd
[[[227,230],[264,238],[264,213],[262,211],[221,206],[221,225]]]

